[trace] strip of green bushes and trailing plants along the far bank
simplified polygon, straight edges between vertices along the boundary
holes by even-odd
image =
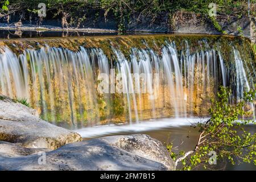
[[[87,19],[94,17],[97,19],[104,15],[105,20],[114,17],[119,31],[125,31],[127,24],[131,19],[143,21],[150,18],[151,23],[157,22],[163,15],[168,15],[171,19],[177,12],[200,13],[208,16],[209,4],[212,0],[2,0],[2,10],[0,17],[9,22],[11,15],[19,14],[20,19],[32,20],[38,18],[38,4],[45,3],[47,9],[46,19],[59,18],[63,27],[81,27],[81,24]],[[247,1],[244,0],[217,0],[218,15],[228,16],[247,16]],[[256,16],[256,0],[251,0],[251,17]],[[209,18],[209,17],[208,17]],[[216,18],[210,18],[214,27],[222,31]],[[171,24],[171,20],[170,20]]]

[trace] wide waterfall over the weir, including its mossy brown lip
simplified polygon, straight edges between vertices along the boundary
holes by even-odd
[[[255,57],[242,38],[102,36],[1,45],[0,93],[26,98],[43,119],[72,127],[208,115],[219,85],[230,86],[236,102],[256,82]]]

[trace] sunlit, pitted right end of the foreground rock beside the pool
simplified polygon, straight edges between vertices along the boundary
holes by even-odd
[[[159,140],[151,138],[148,135],[119,135],[101,139],[135,155],[162,163],[170,170],[175,169],[175,163],[171,159],[170,154],[168,154],[166,147]]]

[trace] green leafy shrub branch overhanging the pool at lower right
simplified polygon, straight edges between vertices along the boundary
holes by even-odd
[[[254,163],[256,165],[256,133],[246,131],[245,126],[255,124],[254,120],[241,119],[246,114],[246,105],[255,99],[255,90],[245,93],[245,97],[232,105],[229,102],[230,90],[221,87],[217,99],[212,100],[209,109],[210,119],[193,125],[199,129],[199,139],[196,147],[189,152],[172,152],[172,143],[167,144],[167,150],[176,165],[181,162],[182,169],[191,170],[198,166],[210,168],[209,153],[215,151],[217,161],[228,160],[231,164],[240,162]]]

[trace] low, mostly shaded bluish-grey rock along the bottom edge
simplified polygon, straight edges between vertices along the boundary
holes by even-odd
[[[7,157],[0,153],[0,170],[174,169],[174,166],[168,166],[174,163],[165,156],[166,148],[162,147],[158,140],[147,135],[104,137],[69,143],[57,150],[48,151],[45,164],[39,164],[42,155],[38,154]]]

